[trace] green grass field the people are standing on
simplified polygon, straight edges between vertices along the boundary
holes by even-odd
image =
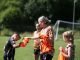
[[[29,36],[29,34],[28,34]],[[0,60],[3,60],[3,47],[8,37],[0,36]],[[21,40],[20,40],[21,41]],[[18,42],[17,42],[18,43]],[[75,60],[80,60],[80,39],[75,39]],[[53,60],[57,60],[59,46],[65,46],[62,37],[55,41],[55,54]],[[33,41],[31,40],[25,48],[16,48],[15,60],[34,60],[33,57]]]

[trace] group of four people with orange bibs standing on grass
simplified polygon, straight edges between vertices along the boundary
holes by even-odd
[[[32,37],[24,37],[24,42],[16,45],[15,41],[20,39],[17,33],[14,33],[8,40],[4,48],[4,60],[14,60],[15,48],[25,46],[29,40],[34,40],[34,59],[52,60],[54,55],[54,31],[50,26],[47,17],[41,16],[36,24],[36,31]],[[72,31],[63,33],[63,40],[67,43],[66,47],[60,47],[58,60],[73,60],[74,58],[74,37]],[[25,43],[26,42],[26,43]],[[25,43],[25,44],[24,44]]]

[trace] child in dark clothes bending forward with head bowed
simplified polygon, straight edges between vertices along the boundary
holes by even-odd
[[[16,44],[16,41],[20,39],[20,35],[14,33],[9,40],[7,41],[4,47],[4,60],[14,60],[15,48],[19,47],[19,44]]]

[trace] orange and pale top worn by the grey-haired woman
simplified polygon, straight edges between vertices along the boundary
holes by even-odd
[[[41,45],[40,45],[40,50],[41,53],[46,53],[46,52],[53,52],[53,44],[52,41],[49,39],[48,35],[48,28],[42,29],[40,32],[40,40],[41,40]]]

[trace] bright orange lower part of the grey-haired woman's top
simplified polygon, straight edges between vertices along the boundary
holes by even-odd
[[[40,49],[41,49],[42,53],[50,52],[53,50],[52,43],[50,43],[47,36],[45,36],[44,38],[41,39]]]

